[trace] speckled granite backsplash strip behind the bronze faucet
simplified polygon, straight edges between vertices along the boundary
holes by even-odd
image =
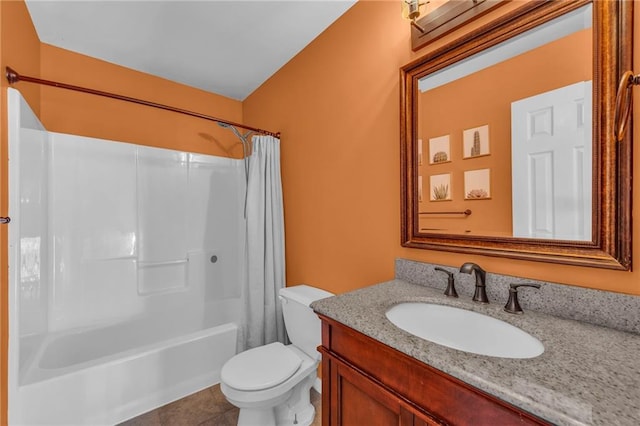
[[[471,299],[475,290],[475,277],[473,274],[460,273],[459,268],[396,259],[395,277],[412,284],[444,291],[447,287],[447,276],[436,271],[434,269],[436,266],[452,272],[458,295],[461,298]],[[518,291],[518,299],[525,315],[527,310],[533,310],[560,318],[640,334],[639,296],[499,275],[487,271],[486,290],[490,302],[504,305],[509,296],[509,285],[512,283],[540,284],[540,289],[522,288]]]

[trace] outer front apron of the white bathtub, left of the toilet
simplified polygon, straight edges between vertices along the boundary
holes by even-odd
[[[15,389],[18,403],[9,407],[10,424],[114,425],[215,385],[223,363],[235,354],[237,329],[222,329],[185,344],[148,352],[145,357],[103,363]],[[190,354],[196,357],[193,363]],[[158,379],[162,371],[169,373],[166,379]],[[98,387],[91,386],[87,393],[86,384],[97,383],[95,380],[100,381]],[[121,392],[120,383],[129,385]],[[61,392],[64,389],[71,393]],[[40,403],[34,406],[29,401]]]

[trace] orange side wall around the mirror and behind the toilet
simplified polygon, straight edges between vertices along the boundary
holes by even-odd
[[[394,259],[402,257],[450,266],[473,261],[494,273],[640,295],[640,238],[634,272],[400,246],[399,68],[451,35],[417,53],[409,37],[397,2],[360,1],[244,102],[245,120],[283,135],[288,284],[340,293],[393,278]],[[640,43],[636,72],[638,49]],[[634,101],[640,105],[638,89]],[[640,108],[633,114],[640,123]],[[640,170],[640,155],[634,159]],[[640,200],[638,179],[633,192]],[[640,218],[634,222],[640,229]]]

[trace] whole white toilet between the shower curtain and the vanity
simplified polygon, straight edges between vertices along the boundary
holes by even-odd
[[[291,345],[270,343],[239,353],[222,367],[220,389],[240,408],[238,426],[305,426],[315,409],[310,390],[320,362],[320,319],[311,302],[333,296],[308,285],[280,289]]]

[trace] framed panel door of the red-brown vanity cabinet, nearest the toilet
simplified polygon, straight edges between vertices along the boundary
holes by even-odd
[[[349,366],[331,362],[332,426],[435,426],[403,399]]]

